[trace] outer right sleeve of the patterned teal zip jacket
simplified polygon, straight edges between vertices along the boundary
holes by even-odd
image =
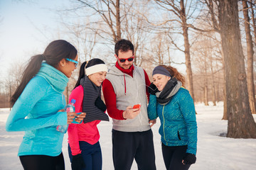
[[[188,91],[182,91],[180,101],[178,102],[183,118],[186,122],[186,130],[188,135],[188,149],[187,153],[196,154],[197,143],[197,123],[196,111],[193,103],[193,98]]]

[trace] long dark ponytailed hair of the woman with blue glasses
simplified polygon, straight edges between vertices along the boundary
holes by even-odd
[[[35,55],[31,57],[31,60],[28,62],[26,69],[22,74],[21,84],[19,84],[13,96],[11,96],[11,106],[14,106],[14,103],[18,100],[18,97],[21,96],[21,93],[28,84],[28,81],[30,81],[38,73],[43,60],[46,60],[47,64],[58,68],[58,63],[60,60],[65,58],[75,59],[77,55],[78,50],[76,50],[75,47],[70,44],[70,42],[65,40],[55,40],[50,42],[50,44],[46,47],[46,50],[43,52],[43,55]]]

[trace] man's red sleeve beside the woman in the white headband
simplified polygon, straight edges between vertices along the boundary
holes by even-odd
[[[108,79],[103,81],[102,91],[107,106],[107,113],[110,115],[110,118],[124,120],[122,115],[124,111],[117,109],[117,96],[114,93],[114,88]]]

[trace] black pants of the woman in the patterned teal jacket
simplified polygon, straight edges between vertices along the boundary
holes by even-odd
[[[164,164],[167,170],[187,170],[191,165],[182,164],[182,159],[186,154],[187,145],[178,147],[168,147],[162,143],[162,153]]]

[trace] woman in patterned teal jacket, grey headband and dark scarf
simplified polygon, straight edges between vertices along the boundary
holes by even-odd
[[[159,117],[166,169],[189,169],[196,162],[197,125],[193,99],[183,88],[185,78],[174,67],[160,65],[149,88],[150,120]]]

